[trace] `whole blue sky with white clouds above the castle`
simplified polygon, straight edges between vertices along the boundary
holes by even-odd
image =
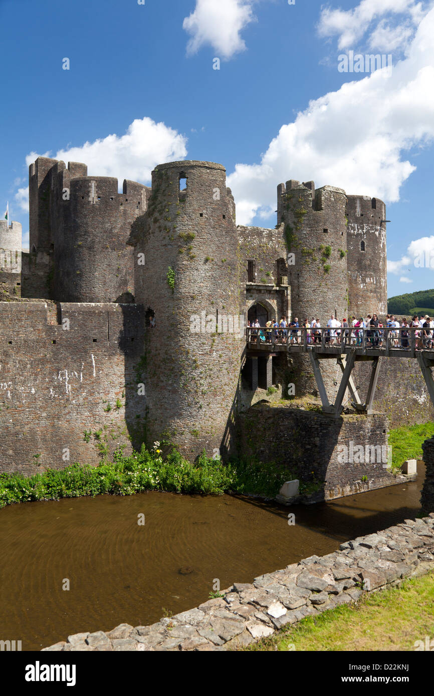
[[[389,296],[434,287],[415,263],[434,267],[433,0],[0,0],[0,19],[0,205],[24,246],[37,155],[120,186],[205,159],[226,166],[239,223],[274,226],[290,178],[382,198]],[[339,72],[350,51],[393,68]]]

